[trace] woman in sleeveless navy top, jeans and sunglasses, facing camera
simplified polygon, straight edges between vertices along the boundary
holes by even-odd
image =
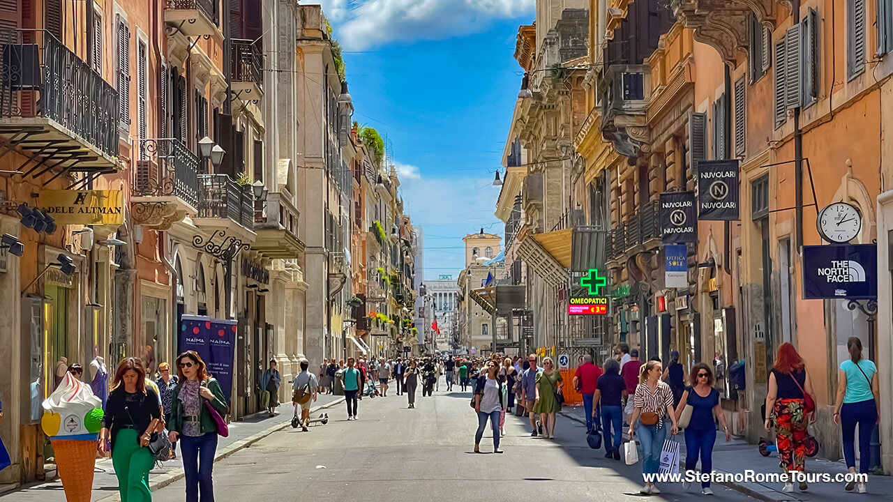
[[[682,392],[679,405],[676,406],[676,419],[682,416],[686,405],[691,405],[691,418],[685,428],[685,470],[694,471],[697,457],[701,457],[701,473],[709,474],[714,470],[713,454],[716,443],[716,424],[719,420],[725,431],[726,442],[731,440],[729,427],[726,426],[725,414],[720,406],[720,393],[714,389],[714,372],[704,363],[695,364],[691,369],[691,387]],[[690,488],[689,481],[682,481],[685,489]],[[701,481],[701,494],[713,495],[710,481]]]

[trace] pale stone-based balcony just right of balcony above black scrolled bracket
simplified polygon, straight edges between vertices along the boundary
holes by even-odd
[[[251,248],[270,258],[300,258],[304,243],[297,238],[299,216],[286,194],[267,195],[266,207],[255,212],[257,238]]]

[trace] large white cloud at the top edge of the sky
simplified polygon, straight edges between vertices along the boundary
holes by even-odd
[[[318,0],[347,50],[393,41],[437,40],[535,12],[535,0]]]

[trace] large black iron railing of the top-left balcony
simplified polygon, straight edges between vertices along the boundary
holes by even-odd
[[[0,30],[0,121],[46,118],[118,156],[118,91],[43,29]]]

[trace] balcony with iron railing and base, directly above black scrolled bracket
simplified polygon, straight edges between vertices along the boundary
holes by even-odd
[[[239,185],[226,174],[199,174],[198,190],[196,226],[254,240],[255,199],[250,185]]]

